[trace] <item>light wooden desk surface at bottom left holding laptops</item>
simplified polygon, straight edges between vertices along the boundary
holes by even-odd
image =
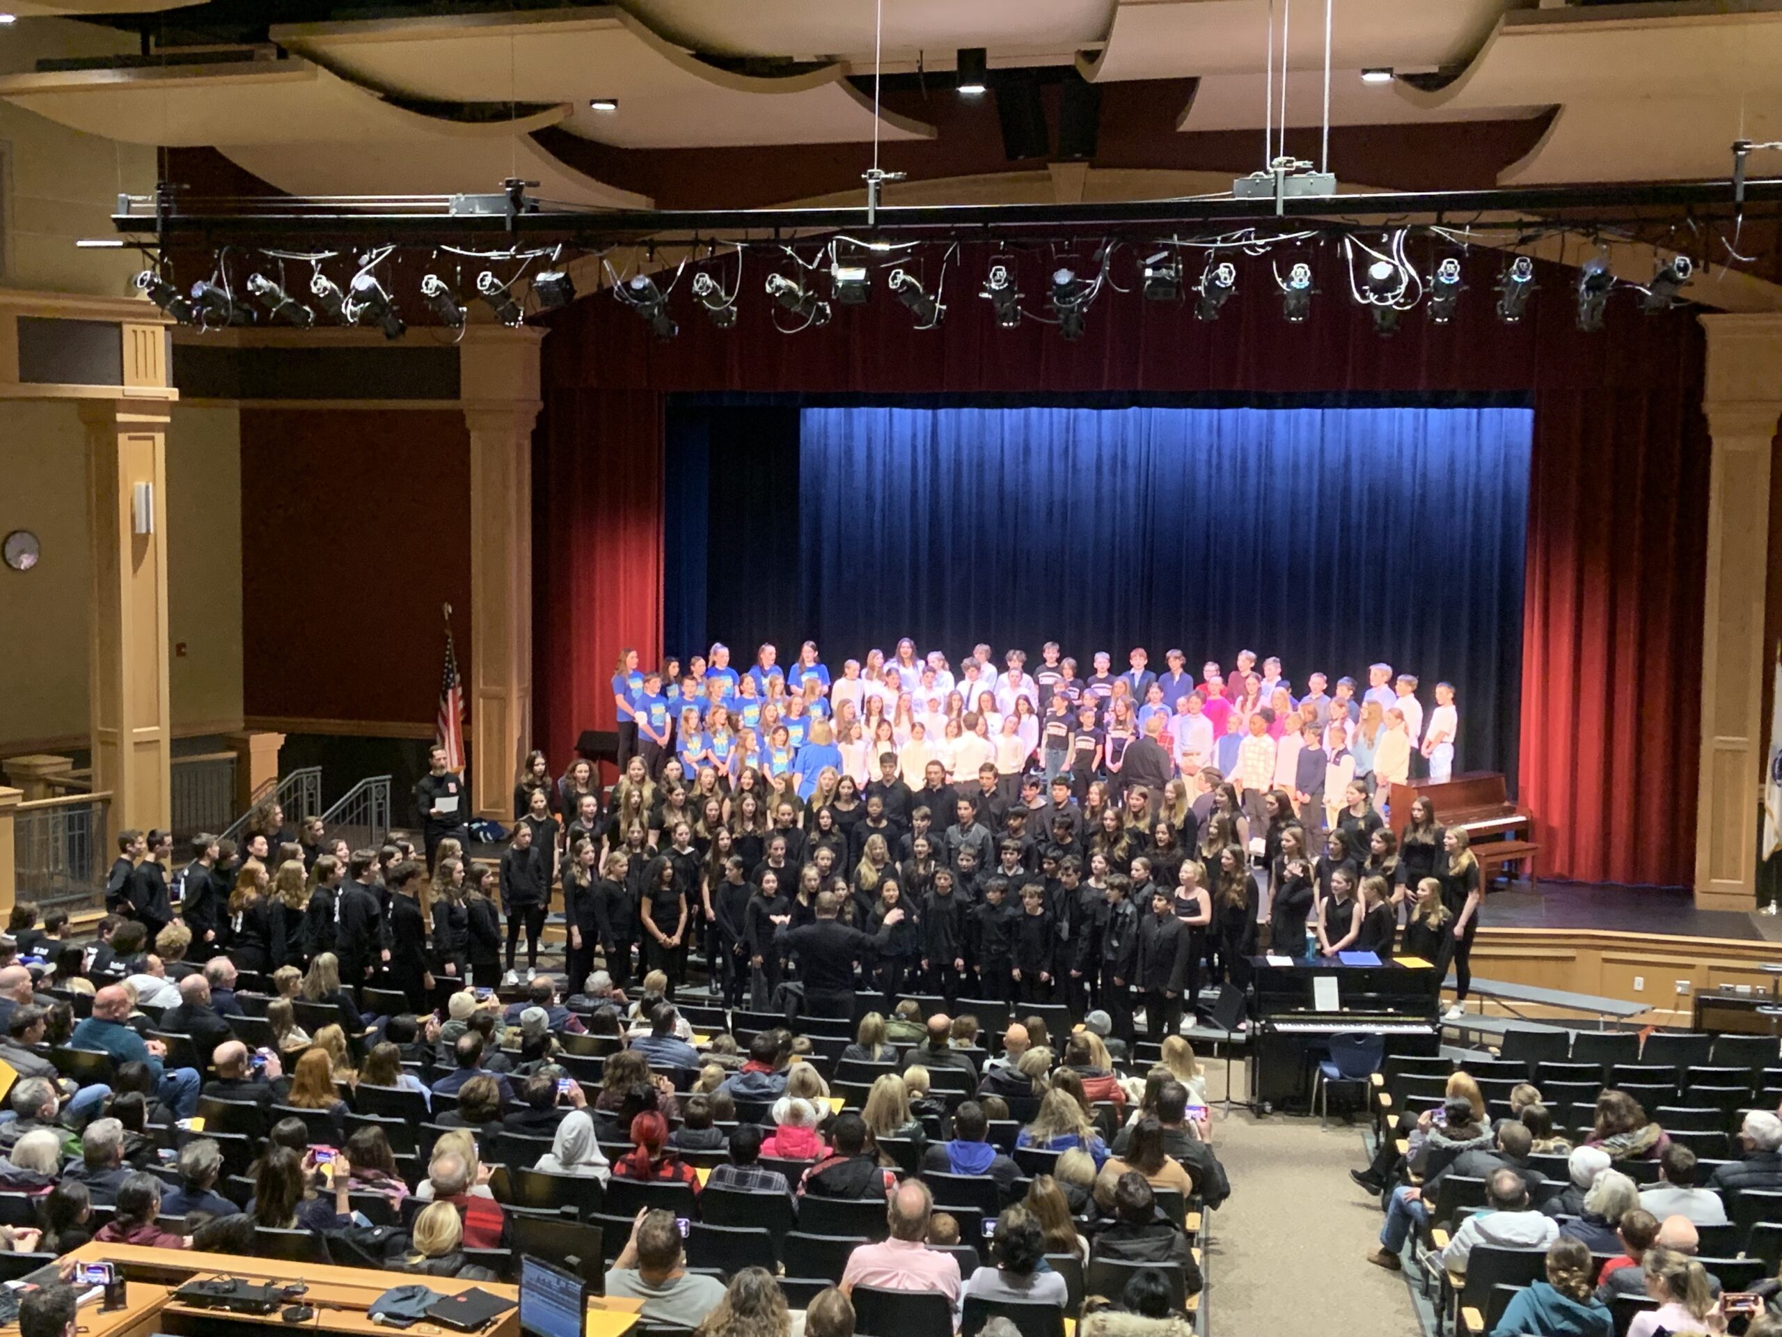
[[[372,1323],[367,1317],[371,1305],[388,1291],[392,1285],[424,1284],[440,1294],[456,1294],[458,1291],[479,1289],[492,1296],[501,1296],[515,1303],[506,1314],[495,1319],[495,1323],[479,1333],[479,1337],[519,1337],[520,1332],[520,1312],[517,1308],[520,1301],[520,1291],[513,1285],[503,1285],[501,1282],[463,1282],[454,1276],[412,1276],[408,1273],[392,1271],[372,1271],[369,1267],[328,1267],[321,1264],[292,1264],[282,1259],[237,1259],[232,1253],[196,1253],[192,1250],[151,1250],[137,1248],[134,1244],[102,1244],[98,1241],[91,1244],[82,1244],[69,1257],[82,1262],[119,1262],[127,1269],[153,1269],[155,1275],[173,1273],[171,1285],[150,1285],[130,1282],[130,1294],[143,1291],[143,1308],[139,1310],[132,1303],[123,1316],[148,1312],[148,1319],[157,1319],[162,1312],[169,1316],[185,1316],[198,1319],[228,1319],[232,1323],[257,1323],[271,1328],[299,1328],[299,1330],[321,1330],[321,1332],[346,1332],[346,1333],[380,1333],[380,1337],[388,1337],[390,1328]],[[308,1292],[303,1296],[301,1303],[312,1305],[315,1308],[315,1317],[308,1323],[285,1323],[280,1312],[269,1316],[258,1314],[226,1314],[212,1308],[196,1308],[191,1305],[182,1305],[169,1300],[169,1294],[189,1280],[203,1276],[239,1276],[248,1282],[298,1282],[301,1280]],[[280,1307],[283,1308],[283,1307]],[[87,1317],[87,1310],[82,1308],[82,1323],[89,1328],[87,1337],[130,1337],[130,1333],[116,1330],[103,1332],[94,1326],[93,1319]],[[114,1317],[114,1316],[105,1316]],[[415,1337],[465,1337],[454,1328],[446,1328],[438,1323],[415,1323],[403,1332],[413,1333]],[[4,1337],[4,1330],[0,1330]]]

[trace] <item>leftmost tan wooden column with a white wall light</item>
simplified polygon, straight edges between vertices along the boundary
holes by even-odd
[[[93,544],[89,681],[93,788],[110,790],[110,831],[171,824],[168,708],[168,421],[159,399],[91,399],[87,521]],[[146,488],[146,490],[144,490]],[[146,528],[146,533],[139,529]]]

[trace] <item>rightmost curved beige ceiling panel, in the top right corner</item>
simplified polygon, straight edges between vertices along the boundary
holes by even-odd
[[[1506,185],[1725,176],[1734,139],[1782,134],[1782,4],[1508,14],[1445,89],[1397,94],[1427,111],[1557,105]]]

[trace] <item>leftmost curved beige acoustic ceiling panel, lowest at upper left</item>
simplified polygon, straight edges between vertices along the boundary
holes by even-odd
[[[465,123],[394,107],[308,61],[7,75],[0,98],[132,144],[212,144],[290,194],[458,194],[536,180],[565,203],[647,209],[645,196],[572,171],[533,130],[568,107]]]

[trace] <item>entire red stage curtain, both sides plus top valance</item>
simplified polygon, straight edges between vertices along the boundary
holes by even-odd
[[[822,330],[782,335],[759,296],[759,266],[727,332],[683,310],[681,337],[659,342],[606,296],[552,317],[535,469],[536,488],[568,492],[535,504],[536,701],[549,726],[538,736],[552,763],[579,729],[611,722],[620,644],[645,660],[661,644],[665,394],[1151,390],[1440,403],[1443,392],[1511,392],[1536,408],[1520,799],[1540,820],[1541,872],[1689,881],[1707,526],[1695,312],[1643,316],[1618,294],[1607,328],[1582,333],[1575,271],[1541,264],[1527,317],[1506,326],[1492,312],[1499,260],[1475,253],[1452,324],[1415,310],[1381,339],[1347,299],[1342,257],[1322,250],[1310,257],[1319,296],[1304,324],[1281,319],[1267,264],[1246,262],[1219,321],[1110,294],[1085,335],[1064,342],[1034,321],[994,328],[975,294],[987,258],[962,248],[946,321],[927,332],[879,292]],[[1037,260],[1028,267],[1021,285],[1037,308],[1046,280]],[[1440,597],[1442,574],[1429,581]]]

